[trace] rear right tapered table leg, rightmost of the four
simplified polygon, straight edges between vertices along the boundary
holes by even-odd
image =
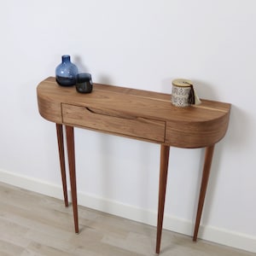
[[[197,213],[196,213],[196,219],[195,219],[195,230],[194,230],[193,241],[196,241],[197,235],[198,235],[198,230],[199,230],[200,221],[201,221],[201,212],[204,206],[204,201],[205,201],[206,192],[207,192],[207,183],[210,176],[210,170],[212,165],[213,151],[214,151],[214,145],[206,148],[205,163],[204,163],[204,169],[201,177],[201,189],[200,189],[200,195],[199,195],[199,201],[198,201],[198,207],[197,207]]]

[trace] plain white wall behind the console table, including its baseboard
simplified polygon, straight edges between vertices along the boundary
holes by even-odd
[[[232,103],[200,236],[256,252],[255,1],[9,0],[0,21],[0,181],[61,191],[55,125],[36,96],[61,55],[100,83],[170,93],[192,79],[201,98]],[[155,224],[160,146],[75,132],[80,204]],[[167,229],[192,234],[203,153],[171,149]]]

